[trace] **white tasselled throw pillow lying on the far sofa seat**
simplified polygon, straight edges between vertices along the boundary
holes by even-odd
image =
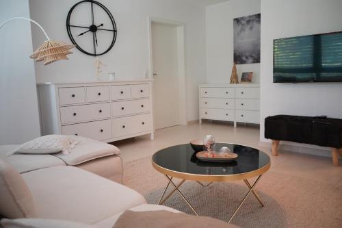
[[[59,153],[62,151],[62,153],[68,154],[77,143],[79,143],[79,140],[68,136],[48,135],[21,144],[16,149],[16,153],[45,154]]]

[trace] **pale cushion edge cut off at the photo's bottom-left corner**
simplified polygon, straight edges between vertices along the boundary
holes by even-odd
[[[3,218],[1,225],[3,225],[3,228],[96,228],[83,223],[42,218],[18,218],[13,220]]]

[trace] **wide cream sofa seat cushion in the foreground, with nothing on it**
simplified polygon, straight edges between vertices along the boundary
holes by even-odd
[[[146,203],[141,194],[74,166],[24,173],[39,218],[92,224]]]

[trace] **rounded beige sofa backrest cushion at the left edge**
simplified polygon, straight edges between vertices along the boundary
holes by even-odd
[[[5,160],[0,160],[0,214],[7,218],[35,217],[31,192],[23,177]]]

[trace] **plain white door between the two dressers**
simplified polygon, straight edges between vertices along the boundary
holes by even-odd
[[[180,124],[177,27],[152,23],[155,129]]]

